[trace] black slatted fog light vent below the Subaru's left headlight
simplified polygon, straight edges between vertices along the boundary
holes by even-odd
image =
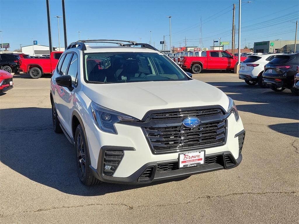
[[[123,157],[123,151],[107,150],[104,155],[103,174],[112,176]]]

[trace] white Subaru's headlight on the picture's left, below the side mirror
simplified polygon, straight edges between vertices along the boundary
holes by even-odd
[[[102,107],[94,102],[91,102],[91,112],[94,117],[94,121],[100,130],[112,134],[117,134],[114,127],[115,123],[120,121],[138,121],[138,119],[134,117],[109,110],[108,108]]]

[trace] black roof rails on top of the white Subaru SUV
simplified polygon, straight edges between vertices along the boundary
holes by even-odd
[[[78,40],[77,42],[72,42],[65,50],[68,50],[70,48],[77,47],[80,50],[86,50],[86,46],[84,43],[110,43],[110,44],[118,44],[122,47],[130,47],[130,46],[141,46],[144,48],[149,48],[152,50],[157,50],[155,47],[149,45],[149,44],[144,44],[144,43],[137,43],[135,41],[127,41],[127,40],[109,40],[109,39],[99,39],[99,40]],[[127,42],[129,44],[124,44],[122,42]],[[78,46],[77,46],[78,45]]]

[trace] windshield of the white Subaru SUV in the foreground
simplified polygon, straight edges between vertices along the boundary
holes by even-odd
[[[162,53],[86,53],[85,80],[99,83],[181,81],[187,75]]]

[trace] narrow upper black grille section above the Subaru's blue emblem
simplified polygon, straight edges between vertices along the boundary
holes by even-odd
[[[188,116],[211,116],[219,115],[223,112],[220,108],[197,108],[197,109],[181,109],[179,111],[163,111],[157,113],[151,113],[147,116],[147,119],[176,119]]]

